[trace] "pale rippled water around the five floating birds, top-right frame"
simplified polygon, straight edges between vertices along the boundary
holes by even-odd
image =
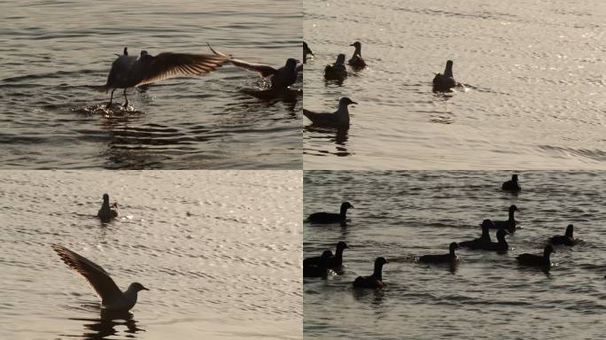
[[[360,103],[347,134],[304,132],[306,168],[606,167],[603,1],[308,0],[304,11],[306,108]],[[369,67],[324,81],[354,41]],[[464,89],[434,94],[447,59]]]

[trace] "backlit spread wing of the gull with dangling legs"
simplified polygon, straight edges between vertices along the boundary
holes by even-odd
[[[211,54],[160,53],[155,57],[140,58],[133,75],[141,80],[137,85],[162,81],[180,75],[201,75],[214,71],[228,58]]]

